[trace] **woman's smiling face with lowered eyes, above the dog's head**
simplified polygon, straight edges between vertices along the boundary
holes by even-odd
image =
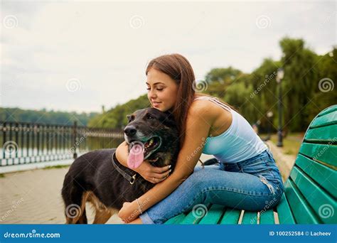
[[[164,72],[151,68],[146,78],[147,97],[152,107],[166,112],[176,101],[178,85]]]

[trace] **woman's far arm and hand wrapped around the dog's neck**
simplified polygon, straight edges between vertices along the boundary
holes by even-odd
[[[126,141],[119,144],[116,149],[116,158],[123,166],[129,168],[127,166],[127,156],[129,155],[128,152],[128,144]],[[170,173],[169,170],[170,166],[164,167],[155,167],[151,166],[151,164],[147,161],[143,161],[138,168],[132,169],[141,175],[142,178],[148,180],[151,183],[160,183],[161,181],[165,180]],[[156,180],[154,181],[154,178]]]

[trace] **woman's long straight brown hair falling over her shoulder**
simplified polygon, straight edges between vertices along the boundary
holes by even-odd
[[[188,60],[180,54],[161,55],[158,58],[152,59],[146,68],[146,75],[155,68],[166,75],[169,75],[178,85],[178,93],[176,102],[169,110],[176,121],[180,134],[180,146],[183,146],[183,141],[186,134],[186,118],[188,109],[191,106],[193,99],[198,96],[208,96],[196,92],[196,83],[193,68]],[[220,101],[222,102],[222,101]],[[223,102],[224,104],[227,104]]]

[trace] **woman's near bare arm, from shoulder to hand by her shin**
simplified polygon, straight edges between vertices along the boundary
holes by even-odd
[[[156,184],[154,188],[151,188],[151,190],[138,198],[141,211],[147,210],[149,207],[166,198],[193,173],[214,119],[215,116],[207,105],[198,104],[197,106],[196,104],[192,104],[188,111],[186,136],[178,154],[176,168],[169,178]],[[138,204],[136,200],[134,200],[126,209],[123,207],[118,215],[124,222],[131,222],[138,217],[138,208]]]

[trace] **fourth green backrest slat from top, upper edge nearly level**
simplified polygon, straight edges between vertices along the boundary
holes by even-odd
[[[329,144],[308,144],[303,143],[299,148],[302,153],[315,161],[321,161],[329,167],[337,167],[337,146]]]

